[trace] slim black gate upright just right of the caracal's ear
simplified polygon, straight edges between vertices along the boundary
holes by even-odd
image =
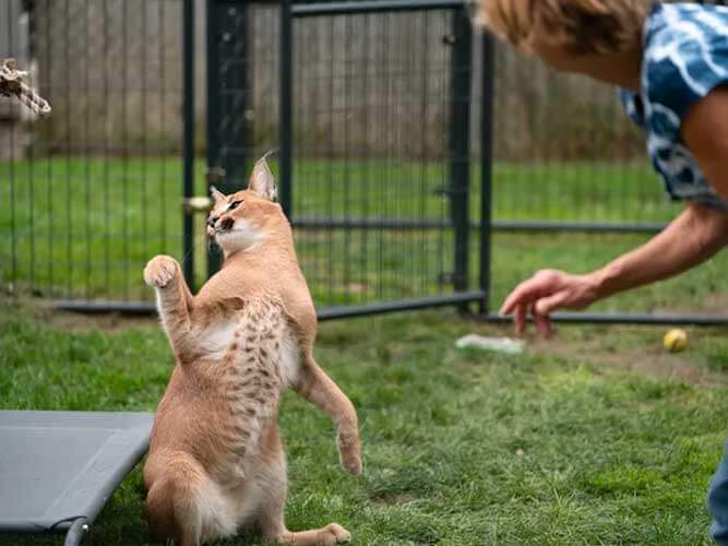
[[[281,206],[288,219],[293,205],[293,7],[291,0],[281,1]]]

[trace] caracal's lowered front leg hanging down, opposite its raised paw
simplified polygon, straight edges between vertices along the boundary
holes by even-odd
[[[347,395],[317,364],[310,351],[305,356],[294,389],[334,420],[342,466],[351,474],[360,474],[361,443],[357,412]]]

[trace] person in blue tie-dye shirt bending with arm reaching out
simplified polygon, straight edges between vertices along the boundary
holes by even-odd
[[[728,8],[646,0],[478,0],[477,22],[551,67],[620,90],[626,114],[684,210],[644,246],[597,271],[542,270],[501,312],[541,334],[558,309],[677,275],[728,244]],[[727,446],[728,449],[728,446]],[[711,532],[728,544],[728,455],[708,491]]]

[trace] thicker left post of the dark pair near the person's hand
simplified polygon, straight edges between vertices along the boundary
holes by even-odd
[[[464,9],[453,11],[450,97],[450,212],[455,230],[453,285],[468,288],[469,175],[470,175],[470,87],[473,27]]]

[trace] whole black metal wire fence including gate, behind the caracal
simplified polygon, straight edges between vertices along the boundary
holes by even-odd
[[[460,0],[0,0],[0,57],[31,67],[55,108],[33,120],[0,104],[1,274],[65,308],[153,309],[141,270],[158,252],[199,285],[219,258],[184,205],[212,182],[243,187],[275,146],[322,318],[485,310],[532,272],[516,252],[538,254],[544,233],[573,237],[557,251],[588,248],[677,211],[613,90],[474,33]]]

